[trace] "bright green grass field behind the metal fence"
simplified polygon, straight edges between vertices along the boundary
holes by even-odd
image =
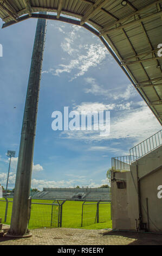
[[[12,198],[9,199],[12,201]],[[53,200],[32,199],[31,216],[29,221],[29,228],[42,227],[57,227],[57,220],[59,214],[59,206],[52,206]],[[36,203],[36,204],[34,204]],[[37,204],[46,203],[46,205]],[[63,204],[62,210],[62,227],[63,228],[83,228],[83,229],[103,229],[112,228],[111,221],[111,204],[100,204],[99,206],[99,223],[95,223],[96,218],[96,204],[83,206],[83,227],[81,227],[82,219],[82,203],[77,201],[66,201]],[[91,202],[92,203],[92,202]],[[49,205],[48,205],[49,204]],[[86,203],[88,204],[88,202]],[[5,202],[0,200],[0,218],[4,223],[5,216]],[[11,221],[12,203],[8,205],[8,215],[5,224],[10,224]]]

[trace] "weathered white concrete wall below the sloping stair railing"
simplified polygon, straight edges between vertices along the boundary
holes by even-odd
[[[143,156],[131,165],[131,172],[112,172],[112,221],[113,229],[135,230],[139,219],[139,175],[141,212],[143,222],[150,231],[162,231],[162,199],[157,197],[157,187],[162,185],[162,146]],[[116,181],[125,180],[126,188],[117,188]],[[148,198],[148,217],[146,198]],[[139,223],[139,222],[138,222]]]

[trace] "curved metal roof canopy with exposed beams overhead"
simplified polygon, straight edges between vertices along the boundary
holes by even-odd
[[[130,0],[124,1],[125,6],[121,2],[0,0],[0,17],[5,22],[3,28],[30,17],[42,17],[73,23],[93,32],[99,36],[162,124],[162,57],[158,56],[158,45],[162,44],[162,0]],[[38,11],[55,12],[56,15],[36,14]]]

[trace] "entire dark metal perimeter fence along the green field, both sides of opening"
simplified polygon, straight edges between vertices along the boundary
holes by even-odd
[[[64,199],[31,199],[31,213],[28,227],[42,228],[42,227],[62,227],[62,212]],[[5,197],[0,199],[0,217],[2,223],[10,224],[12,214],[13,198]],[[112,220],[111,201],[105,202],[98,200],[98,202],[85,201],[82,204],[80,227],[95,223],[103,223]],[[75,216],[74,216],[75,218]]]

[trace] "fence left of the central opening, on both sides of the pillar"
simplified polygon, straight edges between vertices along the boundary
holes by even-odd
[[[61,227],[62,205],[66,200],[31,199],[29,228]],[[0,216],[2,222],[10,224],[13,198],[0,200]]]

